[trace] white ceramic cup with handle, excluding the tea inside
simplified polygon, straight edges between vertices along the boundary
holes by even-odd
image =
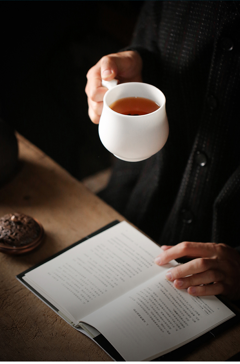
[[[167,141],[169,126],[165,96],[157,87],[147,83],[116,83],[116,80],[102,82],[109,90],[103,98],[98,129],[100,140],[119,159],[143,161],[157,153]],[[109,107],[118,99],[135,96],[153,100],[160,108],[145,115],[123,115]]]

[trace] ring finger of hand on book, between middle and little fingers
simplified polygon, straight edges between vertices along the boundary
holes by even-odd
[[[190,286],[199,286],[201,284],[209,284],[212,282],[221,282],[225,278],[225,275],[219,270],[207,270],[202,273],[193,274],[192,276],[175,279],[173,284],[178,289],[186,289]]]

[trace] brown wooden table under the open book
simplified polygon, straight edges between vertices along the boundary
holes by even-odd
[[[17,135],[22,169],[0,190],[0,216],[37,218],[46,238],[25,256],[0,253],[1,361],[111,361],[15,278],[73,242],[124,218],[29,141]],[[184,361],[224,361],[240,351],[240,325],[187,355]]]

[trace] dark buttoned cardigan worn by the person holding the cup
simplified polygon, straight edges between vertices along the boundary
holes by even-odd
[[[239,246],[239,1],[146,1],[129,49],[166,96],[169,138],[117,161],[100,197],[160,244]]]

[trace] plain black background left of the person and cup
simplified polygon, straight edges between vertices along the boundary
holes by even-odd
[[[82,179],[111,165],[86,74],[131,42],[144,1],[1,1],[0,117]]]

